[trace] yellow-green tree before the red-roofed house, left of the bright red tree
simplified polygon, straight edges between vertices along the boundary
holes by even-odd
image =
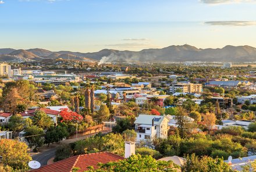
[[[44,111],[37,110],[35,111],[35,115],[31,117],[32,123],[35,126],[38,126],[42,129],[48,129],[54,122],[52,121],[51,117],[45,114]]]

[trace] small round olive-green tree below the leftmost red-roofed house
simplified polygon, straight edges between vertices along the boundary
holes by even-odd
[[[13,133],[22,131],[24,129],[24,119],[22,118],[22,115],[16,114],[10,116],[8,127]]]

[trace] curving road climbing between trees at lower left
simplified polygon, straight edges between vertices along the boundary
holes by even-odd
[[[101,133],[108,133],[109,131],[108,130],[105,130],[105,131],[101,131]],[[99,133],[99,132],[97,132]],[[70,142],[75,142],[77,140],[83,140],[84,138],[87,138],[87,137],[90,137],[90,136],[94,136],[95,134],[97,133],[93,133],[93,134],[88,134],[88,135],[85,135],[83,137],[78,137],[78,138],[72,138],[72,139],[68,139],[68,140],[63,140],[61,141],[63,144],[69,144]],[[32,155],[32,159],[33,160],[36,160],[38,162],[41,163],[41,166],[45,166],[47,165],[47,162],[49,159],[51,158],[54,158],[55,157],[55,152],[56,152],[56,149],[58,148],[59,145],[57,145],[56,147],[54,148],[51,148],[51,149],[48,149],[47,151],[44,151],[44,152],[40,152],[40,153],[37,153],[35,155]]]

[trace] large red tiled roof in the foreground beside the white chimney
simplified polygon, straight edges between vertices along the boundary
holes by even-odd
[[[87,170],[88,166],[98,168],[98,163],[116,162],[125,159],[122,156],[115,155],[110,152],[89,153],[85,155],[77,155],[71,158],[61,160],[59,162],[49,164],[40,169],[32,170],[33,172],[71,172],[73,167],[78,167],[82,172]]]

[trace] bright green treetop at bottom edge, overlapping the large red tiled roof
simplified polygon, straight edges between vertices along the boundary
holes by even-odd
[[[124,160],[119,160],[118,162],[109,162],[105,164],[99,164],[99,169],[94,170],[93,167],[88,172],[92,171],[177,171],[179,166],[175,165],[172,161],[157,161],[152,156],[141,156],[139,154],[131,155],[129,158]]]

